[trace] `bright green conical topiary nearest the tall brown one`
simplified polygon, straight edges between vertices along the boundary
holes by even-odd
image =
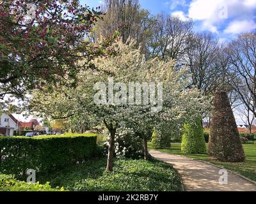
[[[190,154],[204,154],[206,152],[204,131],[200,119],[196,119],[195,124],[184,125],[181,152]]]

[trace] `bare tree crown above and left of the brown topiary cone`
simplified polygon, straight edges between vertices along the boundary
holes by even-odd
[[[204,93],[216,91],[225,72],[218,38],[209,32],[196,33],[189,37],[187,47],[183,60],[191,73],[191,84]]]

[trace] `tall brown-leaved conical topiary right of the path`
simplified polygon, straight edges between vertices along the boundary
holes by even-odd
[[[220,161],[244,161],[236,120],[224,91],[216,92],[212,109],[208,154]]]

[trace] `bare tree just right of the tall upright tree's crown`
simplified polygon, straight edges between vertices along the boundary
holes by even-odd
[[[159,14],[151,20],[151,34],[147,39],[148,57],[161,57],[164,61],[179,59],[186,51],[186,40],[192,33],[192,20]]]

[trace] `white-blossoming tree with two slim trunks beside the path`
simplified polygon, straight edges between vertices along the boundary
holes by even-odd
[[[102,71],[79,72],[79,85],[74,89],[57,86],[51,94],[47,89],[44,94],[35,92],[33,103],[47,107],[42,110],[51,115],[84,113],[94,124],[104,123],[110,133],[107,170],[112,171],[116,129],[132,127],[141,133],[147,159],[148,129],[161,129],[166,124],[169,129],[179,129],[209,103],[198,90],[186,89],[187,71],[175,70],[174,61],[145,61],[140,49],[134,48],[134,41],[116,41],[109,50],[109,54],[92,61]]]

